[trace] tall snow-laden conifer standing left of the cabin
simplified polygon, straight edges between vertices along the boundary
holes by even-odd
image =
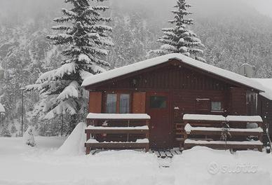
[[[41,74],[34,85],[27,86],[27,90],[39,90],[42,97],[39,110],[35,111],[41,111],[47,119],[70,115],[71,130],[86,111],[86,95],[81,91],[81,83],[109,66],[103,57],[108,55],[107,48],[113,46],[107,34],[111,27],[105,24],[110,18],[101,15],[109,7],[92,6],[90,1],[93,0],[64,0],[72,4],[72,8],[62,8],[63,16],[54,19],[62,25],[53,27],[59,33],[47,36],[54,45],[64,46],[64,60],[59,68]],[[99,0],[103,1],[106,0]]]

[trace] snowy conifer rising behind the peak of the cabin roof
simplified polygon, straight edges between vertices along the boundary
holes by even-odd
[[[169,20],[175,27],[163,28],[163,36],[158,39],[158,42],[163,43],[160,49],[152,50],[150,53],[155,55],[165,55],[168,53],[182,53],[183,55],[192,57],[196,60],[205,62],[203,57],[203,49],[205,46],[197,38],[196,34],[187,27],[193,25],[193,19],[186,18],[191,15],[188,8],[191,5],[187,4],[185,0],[177,0],[176,9],[174,13],[174,20]]]

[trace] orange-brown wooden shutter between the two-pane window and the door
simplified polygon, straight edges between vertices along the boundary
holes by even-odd
[[[144,114],[146,104],[146,93],[133,93],[132,113]]]

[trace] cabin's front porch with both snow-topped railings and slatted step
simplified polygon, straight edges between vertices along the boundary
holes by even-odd
[[[145,149],[149,151],[148,114],[93,114],[87,116],[86,154],[95,149]],[[156,125],[156,123],[152,123]],[[226,125],[228,127],[226,128]],[[253,128],[249,128],[253,125]],[[263,129],[260,116],[219,116],[185,114],[179,130],[179,150],[152,148],[160,158],[171,158],[182,149],[208,146],[212,149],[262,150]],[[226,138],[222,134],[227,132]]]

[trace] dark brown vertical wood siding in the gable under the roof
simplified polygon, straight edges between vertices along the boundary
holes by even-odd
[[[216,78],[187,69],[168,65],[137,76],[117,81],[107,81],[97,89],[190,89],[190,90],[226,90],[229,85]]]

